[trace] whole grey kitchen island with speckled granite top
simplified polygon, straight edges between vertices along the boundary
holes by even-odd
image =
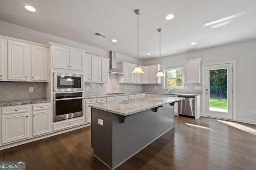
[[[183,99],[144,97],[90,105],[94,156],[116,168],[174,127],[174,103]]]

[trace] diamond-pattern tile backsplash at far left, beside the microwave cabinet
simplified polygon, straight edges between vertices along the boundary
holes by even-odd
[[[33,87],[34,92],[29,92]],[[0,82],[0,102],[46,98],[45,82]]]

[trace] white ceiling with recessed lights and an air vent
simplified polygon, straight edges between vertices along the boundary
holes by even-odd
[[[256,39],[256,0],[0,0],[0,20],[136,58],[136,9],[140,59],[159,57],[158,28],[161,56]],[[166,20],[171,12],[175,18]],[[203,27],[241,12],[222,27]]]

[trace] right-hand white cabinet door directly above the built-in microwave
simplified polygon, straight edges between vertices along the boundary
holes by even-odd
[[[84,51],[70,50],[70,70],[83,70]]]

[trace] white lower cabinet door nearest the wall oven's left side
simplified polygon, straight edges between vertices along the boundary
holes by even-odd
[[[49,110],[33,111],[33,136],[50,133]]]

